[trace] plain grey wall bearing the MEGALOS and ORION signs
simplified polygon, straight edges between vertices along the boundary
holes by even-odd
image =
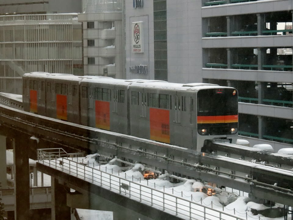
[[[198,1],[125,0],[124,14],[126,78],[202,81]],[[135,24],[142,27],[141,51],[134,48]]]

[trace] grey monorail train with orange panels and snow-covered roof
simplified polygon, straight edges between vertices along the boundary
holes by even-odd
[[[238,136],[238,93],[206,83],[113,79],[45,72],[23,76],[24,110],[201,151]]]

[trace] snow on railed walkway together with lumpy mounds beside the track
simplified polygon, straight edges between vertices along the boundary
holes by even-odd
[[[145,167],[142,164],[120,167],[120,162],[113,159],[102,165],[96,161],[98,154],[71,159],[38,151],[39,155],[43,155],[39,163],[182,219],[272,219],[260,214],[264,209],[270,210],[270,207],[251,202],[248,197],[238,196],[236,201],[225,207],[223,204],[227,202],[227,197],[225,199],[225,196],[221,195],[208,196],[200,192],[204,185],[195,180],[186,179],[180,183],[171,183],[167,180],[166,174],[160,175],[157,179],[144,180],[142,171]],[[273,208],[282,206],[276,204]],[[288,220],[292,220],[291,215],[287,217]],[[284,217],[274,219],[281,220]]]

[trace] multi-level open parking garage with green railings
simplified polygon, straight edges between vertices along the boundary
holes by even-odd
[[[203,81],[237,88],[240,135],[292,147],[293,1],[201,4]]]

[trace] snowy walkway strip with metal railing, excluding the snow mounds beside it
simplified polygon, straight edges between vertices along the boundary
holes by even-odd
[[[147,182],[147,185],[143,185],[141,179],[136,179],[133,176],[129,177],[125,172],[118,171],[118,175],[114,175],[113,169],[109,170],[108,168],[107,170],[106,167],[106,170],[102,171],[101,165],[89,167],[78,163],[77,158],[75,158],[77,161],[73,161],[68,157],[60,157],[56,154],[46,152],[45,149],[38,149],[38,156],[39,163],[76,176],[92,184],[99,185],[112,192],[136,200],[137,202],[179,216],[180,218],[190,220],[260,219],[260,217],[253,218],[248,216],[247,212],[242,214],[236,213],[235,209],[232,210],[232,212],[234,211],[234,215],[229,214],[227,211],[231,212],[231,210],[227,210],[224,206],[215,209],[217,207],[215,207],[215,205],[213,207],[211,203],[208,204],[209,206],[211,205],[211,207],[208,207],[203,204],[202,200],[194,201],[192,196],[191,199],[185,199],[183,198],[183,194],[182,197],[174,195],[172,189],[165,187],[161,187],[161,190],[155,189],[156,185],[154,185],[154,188],[148,186],[149,182]],[[221,210],[219,210],[219,208]],[[242,216],[242,218],[235,215]]]

